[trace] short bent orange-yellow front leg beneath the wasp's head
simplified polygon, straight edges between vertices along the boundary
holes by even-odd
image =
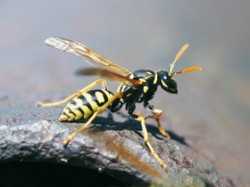
[[[157,125],[158,125],[158,129],[159,132],[165,136],[165,137],[169,137],[170,135],[164,130],[164,128],[162,127],[161,123],[160,123],[160,117],[163,114],[163,111],[161,109],[156,109],[153,106],[151,106],[148,102],[144,103],[144,106],[146,107],[146,109],[148,109],[149,111],[151,111],[153,113],[152,116],[147,116],[145,118],[145,120],[147,120],[148,118],[153,118],[155,119]]]

